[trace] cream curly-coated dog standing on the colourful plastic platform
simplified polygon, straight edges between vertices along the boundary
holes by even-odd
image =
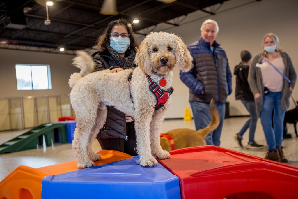
[[[155,111],[156,96],[149,90],[146,74],[158,84],[164,78],[166,82],[161,81],[163,86],[160,85],[160,89],[171,90],[174,67],[178,66],[183,72],[190,70],[192,57],[180,37],[159,32],[150,33],[142,41],[135,63],[138,67],[134,70],[127,69],[117,73],[110,73],[110,70],[93,72],[92,58],[83,51],[77,52],[73,64],[80,68],[81,72],[70,76],[69,86],[72,88],[70,98],[77,119],[72,148],[78,168],[93,166],[93,161],[100,160],[100,155],[92,151],[91,145],[105,123],[106,106],[113,106],[134,117],[140,165],[156,166],[157,160],[153,155],[159,159],[170,157],[170,154],[161,148],[159,135],[171,97],[169,96],[164,107]],[[129,82],[130,73],[132,76]]]

